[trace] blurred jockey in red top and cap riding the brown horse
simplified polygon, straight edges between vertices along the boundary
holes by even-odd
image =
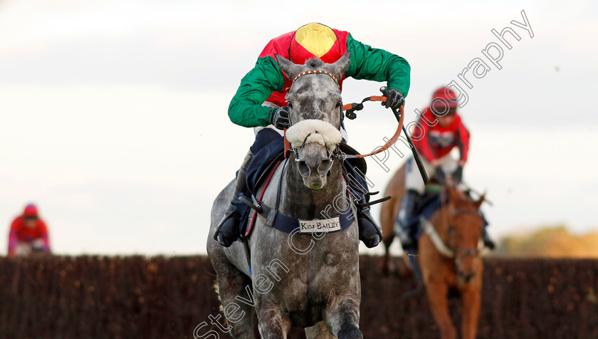
[[[469,132],[461,122],[461,116],[456,112],[457,96],[451,88],[439,88],[432,95],[428,108],[421,113],[418,121],[420,135],[414,136],[413,141],[421,162],[427,173],[438,183],[446,182],[450,176],[453,182],[461,182],[463,165],[467,161],[469,150]],[[454,160],[450,153],[457,147],[460,153],[458,160]],[[416,214],[417,204],[424,194],[424,180],[412,159],[407,160],[405,171],[405,195],[395,222],[395,230],[399,236],[403,249],[414,248],[415,236],[418,231]],[[483,217],[483,215],[482,215]],[[484,218],[483,242],[490,249],[494,242],[490,239]]]

